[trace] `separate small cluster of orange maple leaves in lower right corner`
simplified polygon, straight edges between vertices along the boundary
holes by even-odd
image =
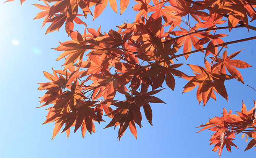
[[[243,102],[242,102],[243,103]],[[251,128],[255,127],[254,119],[255,119],[255,109],[256,103],[254,101],[254,107],[251,110],[247,110],[245,104],[242,104],[241,112],[237,112],[238,115],[232,114],[232,110],[230,109],[227,112],[226,109],[223,109],[222,117],[215,117],[209,120],[206,124],[202,124],[199,127],[204,127],[199,132],[210,129],[211,131],[216,131],[212,138],[210,139],[211,144],[216,144],[214,146],[213,151],[216,152],[219,150],[219,155],[221,155],[222,149],[224,145],[229,152],[231,152],[231,146],[237,147],[233,144],[232,140],[235,137],[235,134],[238,134],[244,131],[249,126]],[[243,132],[248,134],[250,137],[256,137],[255,131]],[[245,150],[252,148],[256,144],[255,138],[249,142]],[[238,147],[237,147],[238,148]]]

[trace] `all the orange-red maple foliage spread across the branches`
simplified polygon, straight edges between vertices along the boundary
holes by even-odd
[[[13,0],[6,2],[10,1]],[[100,28],[86,28],[86,23],[78,17],[86,18],[89,13],[96,19],[108,2],[112,10],[117,12],[115,0],[43,2],[45,5],[34,5],[43,10],[35,19],[44,18],[43,26],[51,23],[45,34],[59,30],[65,23],[66,33],[71,37],[70,41],[60,43],[55,48],[63,51],[57,61],[65,59],[64,69],[53,70],[53,75],[44,72],[50,82],[39,83],[38,88],[47,90],[40,97],[43,103],[41,107],[53,104],[47,109],[49,113],[44,122],[55,122],[53,137],[62,128],[62,132],[69,136],[73,126],[74,132],[81,127],[83,137],[86,131],[90,134],[95,132],[94,121],[104,121],[104,111],[112,118],[105,128],[119,126],[120,139],[129,127],[137,138],[136,124],[141,128],[141,110],[143,109],[146,119],[152,125],[151,103],[164,103],[154,96],[162,91],[159,88],[162,88],[164,81],[174,90],[174,76],[188,80],[183,93],[198,86],[196,97],[199,104],[203,101],[204,106],[210,98],[216,100],[215,94],[220,94],[228,101],[225,80],[236,79],[244,83],[236,68],[251,67],[244,61],[233,59],[242,50],[228,55],[222,49],[256,37],[224,41],[223,37],[227,34],[217,32],[243,27],[248,31],[255,31],[256,27],[250,25],[256,19],[255,0],[135,0],[138,4],[133,6],[133,10],[138,14],[134,22],[124,23],[118,26],[117,31],[110,30],[104,34]],[[120,14],[126,10],[129,2],[120,0]],[[79,11],[83,11],[83,14],[79,14]],[[74,22],[84,25],[83,34],[74,31]],[[188,29],[180,25],[185,25]],[[182,46],[183,53],[178,54]],[[205,68],[188,64],[194,76],[177,70],[183,64],[176,63],[176,58],[185,56],[188,59],[190,54],[199,55],[199,52],[211,58],[210,62],[204,58]],[[114,100],[117,93],[124,95],[126,99]],[[240,132],[254,138],[245,150],[256,145],[255,109],[255,102],[253,109],[249,111],[243,104],[238,115],[224,109],[222,117],[212,118],[199,126],[203,127],[200,131],[215,131],[211,138],[211,144],[215,144],[214,152],[219,150],[221,155],[225,145],[231,152],[231,146],[237,147],[232,140]]]

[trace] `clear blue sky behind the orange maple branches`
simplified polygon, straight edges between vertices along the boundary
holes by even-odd
[[[2,1],[3,2],[3,1]],[[173,158],[217,158],[218,153],[213,153],[214,145],[209,145],[211,131],[199,131],[200,124],[206,123],[209,118],[221,116],[222,109],[232,109],[233,112],[241,110],[242,100],[248,109],[253,107],[256,92],[246,84],[256,88],[256,40],[229,45],[228,53],[233,53],[245,48],[235,59],[248,62],[253,68],[240,69],[245,85],[236,81],[225,81],[228,93],[228,102],[217,96],[217,102],[210,99],[203,107],[198,105],[196,89],[181,94],[187,80],[176,79],[175,91],[165,89],[158,95],[167,104],[152,104],[153,120],[151,126],[143,115],[142,125],[138,130],[136,140],[131,132],[126,130],[120,141],[117,139],[118,130],[113,128],[103,129],[107,123],[96,125],[96,133],[90,135],[86,132],[84,139],[81,130],[75,134],[71,132],[66,139],[66,134],[60,134],[52,139],[53,123],[44,124],[46,109],[39,107],[39,98],[45,91],[37,88],[39,82],[47,82],[43,71],[52,73],[53,69],[63,69],[63,61],[55,61],[60,52],[56,48],[58,41],[69,40],[65,28],[59,32],[45,34],[49,25],[41,29],[42,19],[32,20],[39,13],[39,9],[31,5],[28,0],[20,5],[19,1],[3,4],[0,2],[0,158],[45,158],[45,157],[173,157]],[[40,2],[39,2],[40,3]],[[97,29],[101,26],[102,32],[110,29],[117,30],[115,26],[124,21],[133,22],[135,11],[132,10],[134,2],[120,16],[114,13],[110,6],[97,19],[92,21],[88,15],[85,22],[88,28]],[[254,23],[255,26],[255,23]],[[82,27],[76,27],[82,29]],[[219,32],[220,33],[220,32]],[[226,41],[238,40],[255,36],[255,32],[246,29],[233,29],[233,35],[225,37]],[[188,63],[203,64],[204,54],[192,54]],[[184,59],[179,61],[185,62]],[[191,69],[183,65],[183,72],[192,75]],[[108,118],[104,118],[109,121]],[[72,130],[71,130],[72,131]],[[235,144],[240,150],[232,147],[232,153],[225,149],[222,157],[251,157],[255,155],[254,149],[246,152],[248,142],[244,142],[241,135],[237,135]]]

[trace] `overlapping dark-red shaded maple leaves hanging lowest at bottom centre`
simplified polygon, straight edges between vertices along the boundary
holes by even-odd
[[[152,96],[160,92],[162,89],[154,90],[147,92],[147,86],[145,85],[142,88],[142,93],[134,91],[134,97],[131,97],[130,94],[126,93],[126,100],[113,103],[114,106],[118,107],[108,114],[109,117],[113,118],[112,121],[105,127],[109,128],[111,126],[118,126],[118,138],[123,136],[126,129],[130,128],[131,133],[137,139],[137,130],[135,123],[141,128],[141,112],[140,107],[143,106],[145,115],[149,123],[152,125],[152,110],[149,105],[149,102],[152,103],[165,103],[157,97]]]

